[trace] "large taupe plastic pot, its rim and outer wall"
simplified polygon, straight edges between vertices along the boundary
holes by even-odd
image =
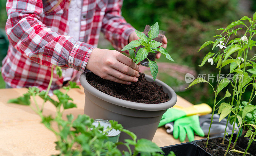
[[[146,74],[145,78],[150,82],[154,81],[152,76]],[[122,100],[95,89],[86,81],[86,75],[81,74],[80,83],[86,95],[84,114],[93,119],[116,120],[123,125],[124,129],[132,131],[138,138],[152,141],[163,114],[177,101],[177,96],[171,87],[158,79],[155,82],[163,86],[164,91],[168,93],[170,97],[168,102],[146,104]],[[121,133],[119,141],[127,138],[130,137]]]

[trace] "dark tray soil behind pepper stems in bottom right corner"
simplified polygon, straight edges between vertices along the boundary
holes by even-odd
[[[249,138],[245,138],[244,135],[241,137],[238,137],[237,139],[237,145],[244,149],[247,148],[248,142],[249,142]],[[247,152],[256,156],[256,141],[252,141],[252,144],[250,145]]]

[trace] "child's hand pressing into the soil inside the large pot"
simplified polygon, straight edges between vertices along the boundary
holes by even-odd
[[[86,64],[86,69],[103,79],[123,84],[137,82],[139,66],[129,57],[116,50],[94,48]]]

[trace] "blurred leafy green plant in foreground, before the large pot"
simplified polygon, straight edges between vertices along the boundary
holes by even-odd
[[[56,72],[58,76],[61,76],[62,71],[58,66],[52,66],[51,79],[47,88],[47,91],[40,91],[36,87],[28,88],[28,92],[23,94],[23,96],[10,99],[8,103],[16,103],[21,105],[28,105],[32,110],[34,110],[40,117],[41,122],[44,126],[52,131],[57,140],[56,150],[59,150],[60,153],[57,155],[65,156],[100,156],[102,152],[106,153],[108,156],[136,156],[139,152],[141,156],[160,156],[161,153],[164,153],[155,143],[152,143],[147,139],[137,139],[137,136],[131,131],[125,130],[121,124],[118,124],[116,121],[110,120],[111,127],[108,127],[107,130],[103,130],[103,126],[94,126],[93,119],[89,116],[83,114],[78,115],[76,119],[72,114],[67,115],[67,120],[63,119],[63,112],[66,109],[76,107],[76,104],[73,103],[73,99],[68,96],[68,91],[73,88],[79,88],[75,82],[69,82],[69,86],[63,87],[65,93],[60,90],[54,90],[53,94],[57,96],[58,100],[54,100],[48,96],[50,86],[53,79],[53,70],[56,67]],[[44,101],[42,107],[40,108],[36,96],[41,97]],[[31,105],[30,99],[33,99],[36,107]],[[44,116],[44,103],[49,101],[56,107],[55,117],[53,116]],[[56,125],[56,129],[52,125]],[[125,142],[113,143],[108,141],[107,134],[108,131],[112,129],[119,130],[123,133],[131,136],[131,139],[125,139]],[[116,149],[116,145],[125,145],[128,151],[119,151]],[[134,146],[134,151],[130,146]],[[94,151],[91,150],[93,147]],[[173,152],[170,152],[168,156],[175,156]]]

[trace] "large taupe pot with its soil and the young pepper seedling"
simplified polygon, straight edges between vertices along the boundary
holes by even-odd
[[[116,120],[138,138],[152,140],[162,115],[175,105],[177,96],[171,87],[156,79],[157,64],[147,56],[160,52],[167,59],[172,58],[163,47],[159,47],[162,43],[153,40],[159,34],[157,22],[151,26],[148,37],[142,32],[136,33],[140,39],[131,41],[122,50],[129,50],[130,58],[137,64],[147,59],[153,77],[141,73],[138,82],[123,85],[93,73],[82,74],[80,83],[86,95],[84,114],[94,119]],[[139,46],[141,48],[136,52]],[[127,137],[121,133],[120,140]]]

